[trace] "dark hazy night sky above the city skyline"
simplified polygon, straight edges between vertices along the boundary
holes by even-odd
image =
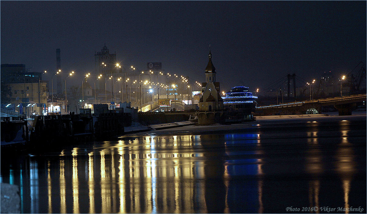
[[[94,70],[104,43],[118,60],[204,82],[265,88],[295,72],[345,74],[366,63],[366,1],[1,1],[1,64]]]

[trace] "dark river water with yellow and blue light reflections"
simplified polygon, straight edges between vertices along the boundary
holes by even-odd
[[[1,156],[1,182],[19,186],[22,213],[366,213],[366,115],[181,127],[29,153]]]

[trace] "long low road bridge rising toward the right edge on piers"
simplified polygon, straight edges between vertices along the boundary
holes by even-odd
[[[331,97],[326,99],[295,101],[291,103],[274,104],[269,106],[256,107],[258,113],[264,114],[314,114],[321,113],[321,107],[334,106],[339,115],[351,115],[352,108],[356,103],[366,103],[367,94],[357,94],[343,97]]]

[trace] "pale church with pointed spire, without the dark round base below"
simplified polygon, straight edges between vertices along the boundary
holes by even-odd
[[[209,62],[205,68],[206,82],[202,83],[201,92],[203,96],[199,100],[199,111],[213,112],[223,110],[223,99],[220,94],[219,82],[215,79],[215,67],[211,61],[211,51],[209,50]]]

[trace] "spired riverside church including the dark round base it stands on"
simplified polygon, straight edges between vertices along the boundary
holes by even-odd
[[[206,82],[201,84],[202,96],[199,100],[199,111],[197,112],[198,124],[209,125],[222,123],[225,121],[223,99],[219,82],[215,79],[215,67],[211,61],[211,51],[209,50],[209,62],[205,68]]]

